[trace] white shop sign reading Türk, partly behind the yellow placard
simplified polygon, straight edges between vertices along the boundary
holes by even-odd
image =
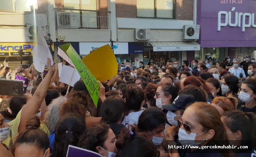
[[[80,42],[80,55],[89,55],[91,51],[107,44],[111,47],[111,42]],[[114,42],[113,46],[114,54],[128,54],[128,42]]]

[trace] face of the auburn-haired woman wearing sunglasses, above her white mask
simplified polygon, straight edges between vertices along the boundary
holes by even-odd
[[[203,133],[203,126],[197,122],[197,116],[195,116],[197,113],[194,108],[187,108],[185,112],[183,113],[183,116],[181,117],[182,121],[190,126],[191,133],[196,133],[195,141],[203,141],[207,139],[207,132]],[[183,125],[181,126],[181,129],[185,130]],[[187,134],[189,134],[188,131],[185,130]],[[201,135],[199,135],[202,133]]]

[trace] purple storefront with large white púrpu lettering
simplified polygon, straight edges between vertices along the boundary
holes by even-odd
[[[255,0],[197,0],[198,58],[256,57]]]

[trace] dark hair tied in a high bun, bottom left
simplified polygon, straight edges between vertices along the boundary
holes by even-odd
[[[40,130],[39,127],[40,119],[37,115],[33,115],[27,120],[26,130],[18,135],[13,146],[13,156],[15,156],[15,149],[22,144],[30,144],[43,151],[49,148],[50,141],[48,135],[43,130]]]

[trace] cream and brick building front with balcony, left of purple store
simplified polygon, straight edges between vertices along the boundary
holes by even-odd
[[[172,58],[181,64],[182,60],[191,61],[200,50],[196,40],[183,39],[183,26],[196,24],[196,0],[11,1],[0,6],[0,44],[9,47],[0,50],[0,61],[16,54],[19,47],[15,46],[19,45],[27,45],[27,55],[31,55],[33,25],[46,39],[51,34],[55,55],[59,45],[69,42],[81,57],[113,42],[119,62],[130,59],[139,66],[139,61],[160,58],[165,62]],[[146,37],[141,37],[144,34]],[[18,62],[15,56],[11,58]],[[31,61],[32,57],[24,60]]]

